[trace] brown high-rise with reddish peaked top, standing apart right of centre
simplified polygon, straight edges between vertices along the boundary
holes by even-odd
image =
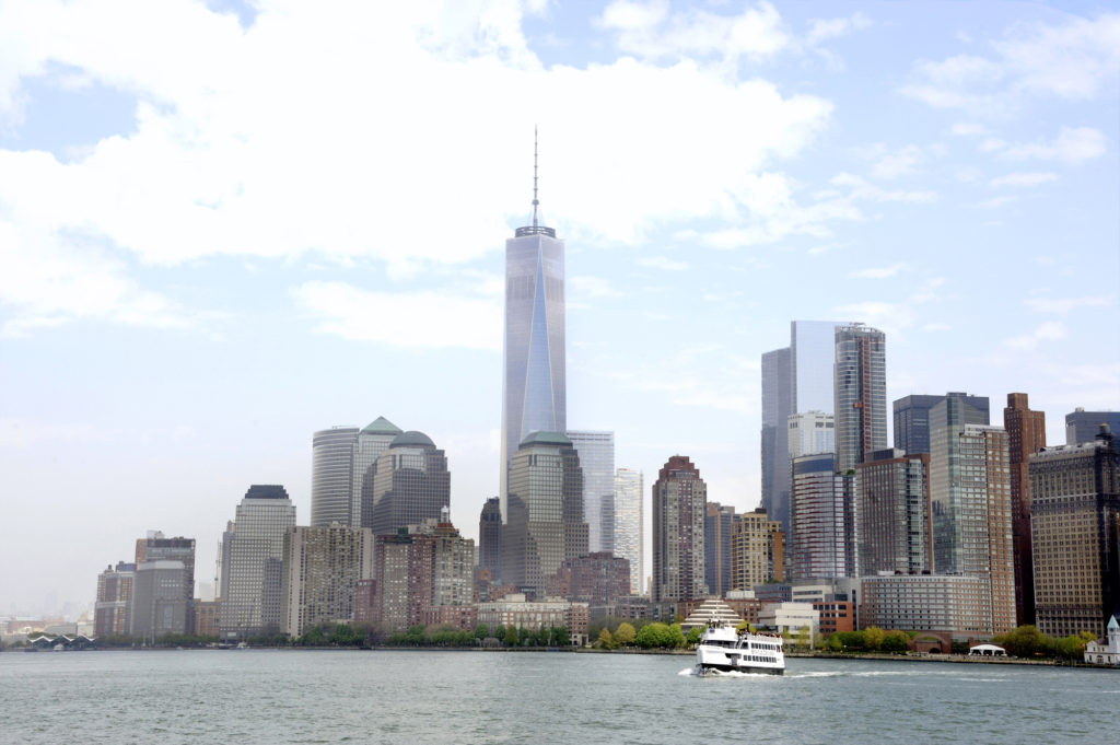
[[[683,455],[674,455],[653,484],[654,603],[706,597],[704,511],[708,485]]]

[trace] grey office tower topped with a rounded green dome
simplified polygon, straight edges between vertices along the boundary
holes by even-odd
[[[423,432],[401,432],[377,458],[370,528],[375,536],[438,520],[450,505],[447,457]]]

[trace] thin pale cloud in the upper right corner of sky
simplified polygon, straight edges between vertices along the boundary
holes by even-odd
[[[1006,111],[1023,95],[1090,100],[1120,71],[1120,13],[1017,24],[989,44],[988,56],[920,60],[904,95],[937,108],[980,114]]]

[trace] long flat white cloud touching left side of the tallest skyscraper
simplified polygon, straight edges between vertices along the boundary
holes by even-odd
[[[502,348],[502,306],[447,292],[374,292],[312,281],[291,297],[323,334],[413,347]]]

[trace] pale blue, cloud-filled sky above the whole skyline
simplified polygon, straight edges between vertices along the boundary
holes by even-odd
[[[0,614],[147,530],[205,581],[250,484],[307,524],[311,434],[379,416],[476,537],[534,127],[568,426],[647,504],[683,454],[758,505],[794,319],[1062,444],[1120,409],[1118,78],[1109,3],[0,0]]]

